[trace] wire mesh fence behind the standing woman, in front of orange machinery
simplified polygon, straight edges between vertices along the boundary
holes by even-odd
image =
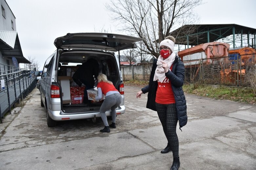
[[[256,54],[232,54],[226,57],[186,60],[185,83],[250,85],[256,74]],[[122,67],[123,80],[149,80],[152,63]]]

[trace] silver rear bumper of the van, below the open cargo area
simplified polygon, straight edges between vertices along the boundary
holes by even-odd
[[[52,111],[48,109],[48,113],[50,118],[56,121],[62,121],[62,120],[77,120],[77,119],[88,119],[88,118],[94,118],[94,115],[96,117],[101,117],[100,112],[80,112],[80,113],[69,113],[66,114],[62,111]],[[125,113],[125,106],[119,106],[118,109],[116,109],[117,115],[122,115]],[[106,111],[106,116],[111,116],[111,110]],[[63,119],[65,118],[65,119]],[[68,119],[69,118],[69,119]]]

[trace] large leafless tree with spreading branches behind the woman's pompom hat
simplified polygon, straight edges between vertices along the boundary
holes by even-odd
[[[202,0],[111,0],[106,7],[113,20],[120,20],[120,30],[144,39],[143,53],[158,58],[158,44],[180,26],[194,24],[198,17],[193,8]],[[172,35],[174,37],[179,36]]]

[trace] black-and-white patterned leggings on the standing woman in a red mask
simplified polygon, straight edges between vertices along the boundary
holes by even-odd
[[[176,104],[156,103],[158,117],[162,123],[165,136],[172,148],[173,158],[179,157],[179,140],[176,133],[178,122]]]

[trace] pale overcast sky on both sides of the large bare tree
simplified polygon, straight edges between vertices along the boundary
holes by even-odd
[[[42,70],[46,58],[56,48],[54,39],[76,32],[122,34],[111,22],[105,4],[108,0],[6,0],[16,17],[23,55],[35,57]],[[195,8],[201,24],[235,23],[256,28],[254,0],[203,0]],[[123,33],[124,34],[124,33]]]

